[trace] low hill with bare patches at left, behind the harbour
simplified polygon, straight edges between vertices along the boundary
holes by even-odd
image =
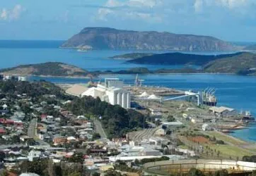
[[[88,71],[74,65],[58,62],[38,63],[30,65],[19,65],[13,68],[0,70],[6,75],[42,75],[42,76],[62,76],[62,77],[84,77]]]

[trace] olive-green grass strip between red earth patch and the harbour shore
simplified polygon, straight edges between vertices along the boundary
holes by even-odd
[[[231,143],[235,146],[245,145],[247,142],[244,142],[240,139],[236,139],[235,137],[228,136],[228,134],[223,134],[221,132],[204,132],[211,137],[216,137],[216,139],[222,140],[223,142]]]

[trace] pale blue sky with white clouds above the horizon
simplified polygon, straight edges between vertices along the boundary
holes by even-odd
[[[0,0],[0,39],[69,39],[83,27],[256,42],[256,0]]]

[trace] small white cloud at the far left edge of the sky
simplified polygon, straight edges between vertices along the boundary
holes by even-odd
[[[16,4],[12,9],[3,8],[0,10],[0,20],[18,20],[24,11],[25,8],[20,4]]]

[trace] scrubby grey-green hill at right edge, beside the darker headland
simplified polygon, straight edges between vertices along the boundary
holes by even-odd
[[[206,73],[236,73],[256,75],[256,54],[240,53],[237,56],[211,61],[204,65]]]

